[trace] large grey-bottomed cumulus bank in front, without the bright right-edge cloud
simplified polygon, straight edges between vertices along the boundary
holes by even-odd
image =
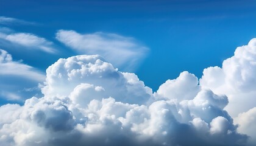
[[[154,94],[137,75],[119,72],[99,55],[59,59],[46,73],[43,97],[0,107],[0,145],[247,142],[224,110],[228,97],[202,88],[188,72]]]

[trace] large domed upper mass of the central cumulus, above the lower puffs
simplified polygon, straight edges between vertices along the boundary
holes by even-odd
[[[152,89],[144,87],[137,75],[118,72],[112,64],[99,55],[80,55],[60,59],[46,70],[46,86],[42,89],[44,96],[69,96],[79,101],[80,94],[92,92],[91,99],[114,97],[128,103],[145,103],[151,97]],[[86,100],[90,102],[90,100]]]

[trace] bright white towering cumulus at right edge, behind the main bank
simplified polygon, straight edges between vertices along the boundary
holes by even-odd
[[[204,69],[200,84],[216,94],[229,97],[226,110],[235,118],[238,130],[251,136],[256,143],[256,38],[245,46],[237,47],[233,57],[217,66]],[[254,132],[253,132],[254,131]]]

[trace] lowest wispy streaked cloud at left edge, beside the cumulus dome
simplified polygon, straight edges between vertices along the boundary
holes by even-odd
[[[24,97],[22,93],[25,90],[35,88],[45,78],[42,72],[32,66],[13,61],[12,55],[2,49],[0,49],[0,68],[0,97],[7,100],[22,100]]]

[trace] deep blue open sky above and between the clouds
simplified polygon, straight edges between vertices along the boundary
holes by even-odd
[[[150,52],[135,73],[154,90],[168,78],[189,71],[198,77],[208,66],[221,66],[237,46],[255,37],[255,1],[1,1],[2,16],[34,25],[10,24],[57,43],[59,29],[79,33],[107,32],[131,36]],[[61,46],[61,44],[59,45]],[[7,48],[8,49],[8,48]],[[47,60],[15,54],[44,71],[60,53]],[[159,74],[161,74],[159,76]],[[153,80],[157,76],[157,80]]]

